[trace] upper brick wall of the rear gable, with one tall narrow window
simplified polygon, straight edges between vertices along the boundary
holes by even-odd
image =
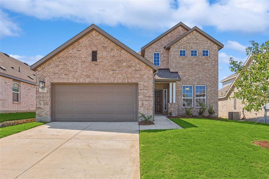
[[[169,68],[169,50],[165,50],[164,47],[185,32],[187,30],[182,26],[172,30],[166,36],[160,38],[145,49],[145,58],[153,63],[153,52],[160,52],[160,68]]]

